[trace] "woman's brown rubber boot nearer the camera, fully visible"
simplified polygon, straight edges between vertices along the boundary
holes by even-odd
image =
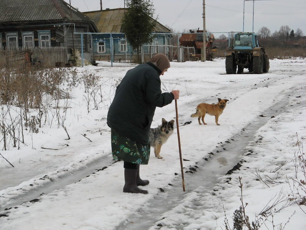
[[[125,185],[123,186],[124,193],[142,193],[148,194],[147,190],[142,190],[136,185],[136,176],[138,169],[124,169]]]

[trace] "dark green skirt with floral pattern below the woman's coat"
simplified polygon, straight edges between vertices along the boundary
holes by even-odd
[[[111,144],[114,160],[122,160],[134,164],[148,164],[150,143],[139,143],[111,129]]]

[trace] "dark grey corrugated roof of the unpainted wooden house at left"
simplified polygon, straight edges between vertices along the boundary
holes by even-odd
[[[63,0],[0,0],[0,21],[40,21],[69,19],[91,21]],[[72,17],[71,17],[71,16]],[[54,22],[54,21],[53,21]]]

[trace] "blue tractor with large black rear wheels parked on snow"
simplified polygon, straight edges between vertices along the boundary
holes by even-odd
[[[256,33],[236,33],[233,46],[226,49],[225,56],[226,74],[236,74],[236,71],[242,74],[244,68],[255,74],[269,71],[269,58]]]

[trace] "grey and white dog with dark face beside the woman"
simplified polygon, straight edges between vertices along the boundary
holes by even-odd
[[[160,148],[166,143],[169,136],[173,133],[174,120],[166,121],[162,118],[162,124],[157,128],[150,128],[149,139],[150,145],[154,148],[154,154],[158,159],[162,159],[159,155]]]

